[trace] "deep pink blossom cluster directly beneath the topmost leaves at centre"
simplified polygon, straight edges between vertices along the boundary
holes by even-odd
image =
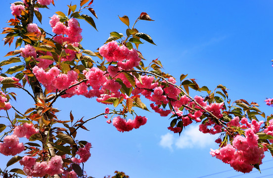
[[[99,53],[108,62],[118,62],[118,67],[130,70],[139,65],[141,59],[138,57],[137,50],[128,49],[125,45],[119,46],[116,41],[109,42],[99,48]]]

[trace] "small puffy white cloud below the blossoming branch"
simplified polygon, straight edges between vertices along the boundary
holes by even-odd
[[[183,148],[204,148],[206,146],[212,145],[217,139],[218,135],[203,134],[199,131],[199,126],[189,126],[182,131],[179,138],[175,139],[174,134],[165,134],[161,136],[160,145],[162,147],[168,147],[173,150],[173,144],[176,145],[178,149]]]

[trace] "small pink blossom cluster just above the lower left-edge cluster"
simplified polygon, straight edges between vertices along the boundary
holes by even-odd
[[[18,137],[29,137],[33,134],[38,134],[39,130],[34,127],[32,123],[24,123],[21,126],[16,126],[13,130],[13,134],[16,134]]]

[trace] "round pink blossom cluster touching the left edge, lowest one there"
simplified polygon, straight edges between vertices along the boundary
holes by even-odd
[[[15,134],[5,136],[3,142],[0,143],[0,153],[6,156],[14,156],[24,149],[24,144],[19,143],[19,138]]]

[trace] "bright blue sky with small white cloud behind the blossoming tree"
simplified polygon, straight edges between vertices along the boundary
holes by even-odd
[[[1,0],[2,28],[12,18],[9,8],[12,2]],[[56,11],[67,13],[68,3],[70,1],[56,0],[55,7],[51,5],[49,10],[40,9],[43,24],[37,19],[34,22],[51,32],[48,17]],[[79,0],[72,0],[73,4],[79,4]],[[84,48],[95,51],[104,44],[110,32],[126,34],[126,25],[119,20],[118,15],[129,16],[132,26],[141,12],[147,12],[155,21],[139,21],[136,25],[139,32],[149,34],[157,45],[147,42],[139,45],[138,49],[147,59],[146,65],[158,58],[164,66],[164,72],[178,79],[181,74],[188,74],[188,78],[196,79],[200,86],[209,89],[223,84],[229,89],[231,101],[254,101],[261,105],[260,109],[266,115],[272,113],[272,107],[264,102],[266,97],[273,97],[272,0],[94,0],[93,5],[98,16],[98,19],[94,18],[98,32],[85,21],[80,21]],[[89,11],[86,14],[91,15]],[[14,50],[14,46],[1,47],[0,56]],[[6,59],[1,57],[1,60]],[[33,107],[31,97],[19,89],[15,92],[19,97],[16,102],[11,102],[12,105],[21,112]],[[206,96],[206,93],[192,90],[190,94]],[[75,119],[83,116],[89,119],[103,113],[106,107],[83,96],[59,98],[53,106],[61,110],[57,113],[61,120],[68,120],[71,110]],[[137,111],[148,118],[147,124],[137,130],[119,133],[106,123],[104,117],[100,117],[86,125],[90,132],[78,133],[79,140],[87,140],[93,146],[91,158],[85,164],[88,176],[103,178],[113,175],[115,170],[125,172],[130,178],[273,176],[270,154],[266,154],[264,164],[260,167],[262,174],[257,170],[250,174],[236,173],[229,165],[209,154],[210,148],[218,149],[214,140],[219,135],[201,134],[196,125],[191,125],[179,137],[167,129],[170,125],[168,117]],[[9,113],[14,115],[12,110]],[[0,111],[0,115],[4,114]],[[10,158],[0,155],[1,169],[5,168]],[[20,167],[19,164],[14,166]]]

